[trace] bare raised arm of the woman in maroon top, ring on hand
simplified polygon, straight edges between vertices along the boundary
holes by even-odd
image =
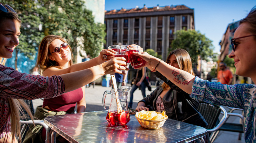
[[[56,67],[52,67],[52,68],[48,68],[43,72],[43,76],[52,76],[52,75],[61,75],[61,74],[65,74],[65,73],[70,73],[70,72],[74,72],[74,71],[80,71],[80,70],[84,70],[84,69],[88,69],[91,68],[93,66],[99,65],[103,62],[106,62],[108,60],[110,60],[111,58],[114,57],[114,50],[111,49],[103,49],[99,56],[85,61],[85,62],[81,62],[81,63],[77,63],[74,64],[68,68],[65,69],[59,69]],[[103,59],[103,55],[108,55],[107,59]]]

